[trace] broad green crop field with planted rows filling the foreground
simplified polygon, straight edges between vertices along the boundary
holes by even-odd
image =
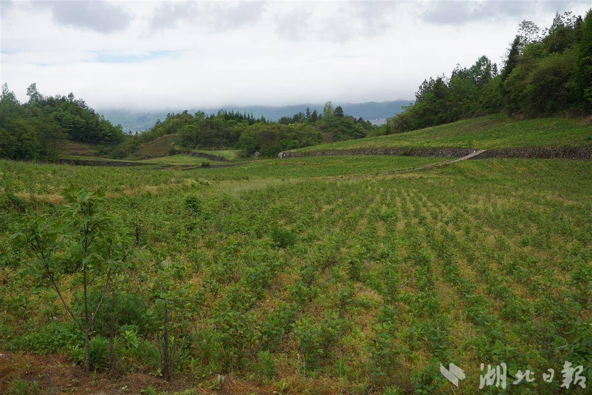
[[[2,160],[0,350],[11,368],[0,392],[111,393],[113,382],[130,393],[474,394],[480,364],[505,362],[510,393],[551,394],[566,360],[592,380],[592,163],[482,159],[377,175],[440,160],[186,171]],[[117,282],[120,378],[106,372],[107,313],[91,339],[99,380],[56,367],[76,361],[81,337],[49,284],[20,274],[33,256],[9,239],[27,215],[59,216],[70,183],[105,191],[105,210],[138,230],[139,264]],[[159,378],[163,276],[179,290],[172,384]],[[79,309],[76,279],[62,283]],[[459,388],[440,374],[449,362],[466,373]],[[535,383],[511,384],[518,369]]]

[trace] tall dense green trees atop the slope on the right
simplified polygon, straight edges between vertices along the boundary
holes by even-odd
[[[423,81],[416,101],[387,121],[383,134],[508,113],[578,116],[592,111],[592,9],[556,14],[551,27],[523,21],[503,68],[487,56]]]

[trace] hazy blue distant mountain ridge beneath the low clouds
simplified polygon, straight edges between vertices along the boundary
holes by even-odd
[[[352,115],[353,117],[362,117],[375,124],[384,123],[386,118],[402,111],[403,105],[410,104],[411,100],[395,100],[375,102],[368,101],[364,103],[339,103],[333,102],[333,107],[340,105],[343,107],[343,112]],[[207,114],[215,114],[218,110],[239,111],[240,113],[251,113],[254,117],[263,117],[277,121],[284,116],[291,116],[302,111],[305,108],[310,108],[310,111],[317,110],[319,113],[323,112],[323,103],[320,104],[298,104],[298,105],[284,105],[284,106],[269,106],[269,105],[252,105],[252,106],[224,106],[221,108],[188,108],[189,113],[193,114],[198,110],[204,111]],[[126,110],[125,108],[117,109],[99,109],[98,113],[102,114],[117,125],[120,124],[124,131],[141,131],[150,129],[156,120],[164,120],[168,113],[180,113],[185,109],[177,110],[156,110],[156,111],[134,111]]]

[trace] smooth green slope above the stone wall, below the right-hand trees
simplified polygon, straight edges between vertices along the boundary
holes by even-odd
[[[507,115],[496,114],[389,136],[320,144],[296,151],[385,147],[563,146],[592,146],[592,125],[581,126],[580,120],[565,118],[516,121]]]

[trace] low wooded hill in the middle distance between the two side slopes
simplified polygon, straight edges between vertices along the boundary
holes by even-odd
[[[274,156],[284,150],[319,144],[323,142],[323,133],[327,133],[327,138],[332,141],[342,141],[365,137],[377,129],[369,121],[346,115],[340,106],[333,108],[331,102],[324,105],[322,114],[307,108],[304,113],[282,117],[278,122],[233,111],[218,111],[215,115],[203,111],[192,115],[183,111],[168,114],[152,129],[131,136],[114,150],[112,156],[130,156],[141,144],[167,134],[181,135],[178,148],[237,148],[244,155],[259,152],[263,156]]]

